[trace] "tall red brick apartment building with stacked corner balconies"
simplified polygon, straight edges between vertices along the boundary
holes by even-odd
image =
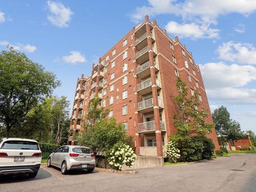
[[[211,123],[203,79],[191,52],[178,37],[170,38],[156,20],[150,22],[145,16],[144,23],[93,64],[91,76],[77,80],[69,143],[74,144],[74,136],[83,130],[81,118],[97,96],[101,105],[111,110],[109,116],[122,122],[127,134],[134,137],[137,155],[163,156],[163,146],[176,132],[172,97],[178,94],[177,76],[186,82],[190,95],[198,91],[197,108],[207,110],[206,122]],[[207,137],[219,148],[215,130]]]

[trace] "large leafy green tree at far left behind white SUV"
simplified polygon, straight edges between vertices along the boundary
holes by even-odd
[[[6,136],[12,127],[23,123],[24,117],[38,102],[50,96],[60,82],[56,76],[24,53],[8,47],[0,53],[0,122]]]

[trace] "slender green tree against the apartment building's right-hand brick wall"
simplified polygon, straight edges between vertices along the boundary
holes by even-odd
[[[179,94],[174,97],[176,113],[174,114],[174,125],[177,132],[170,139],[178,143],[182,156],[186,160],[198,160],[202,158],[203,141],[197,137],[205,137],[214,128],[214,123],[207,124],[205,118],[206,111],[197,110],[198,93],[188,96],[186,83],[179,77],[177,78],[176,87]],[[193,142],[194,141],[194,142]]]

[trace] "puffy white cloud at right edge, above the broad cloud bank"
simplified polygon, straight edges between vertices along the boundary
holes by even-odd
[[[223,42],[217,49],[220,59],[256,65],[256,48],[252,44]]]

